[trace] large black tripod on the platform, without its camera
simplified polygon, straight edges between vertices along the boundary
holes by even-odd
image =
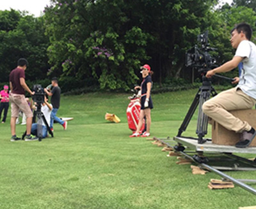
[[[202,111],[202,105],[204,104],[205,101],[207,101],[207,99],[209,99],[211,95],[216,96],[217,92],[214,89],[214,87],[212,87],[211,78],[206,78],[205,76],[203,76],[202,86],[196,93],[193,103],[191,104],[188,113],[179,128],[177,136],[181,136],[182,132],[186,131],[197,106],[199,106],[196,134],[198,136],[198,143],[205,143],[206,140],[204,140],[203,137],[205,136],[205,134],[207,134],[208,116],[205,115],[205,113]]]

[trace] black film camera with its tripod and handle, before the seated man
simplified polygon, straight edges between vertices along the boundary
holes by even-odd
[[[186,131],[188,124],[195,113],[197,106],[198,108],[198,119],[197,119],[197,127],[196,127],[196,134],[198,138],[194,138],[198,140],[198,143],[202,144],[205,143],[204,136],[207,134],[207,127],[208,127],[208,116],[202,111],[202,105],[205,101],[209,99],[211,96],[216,96],[217,92],[212,87],[211,78],[205,77],[207,71],[216,68],[216,59],[209,54],[211,51],[215,51],[216,48],[209,47],[208,43],[208,31],[204,32],[204,34],[198,35],[198,41],[200,42],[201,46],[198,48],[195,45],[193,48],[189,49],[186,52],[186,60],[185,66],[186,68],[193,68],[196,69],[199,73],[202,73],[202,86],[198,89],[196,96],[191,104],[188,113],[183,120],[179,132],[177,136],[181,136],[181,134]],[[221,75],[214,75],[220,78],[225,78],[227,80],[232,81],[232,78],[227,78]],[[191,138],[191,137],[189,137]]]

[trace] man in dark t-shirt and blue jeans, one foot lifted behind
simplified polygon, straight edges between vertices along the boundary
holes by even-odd
[[[51,96],[51,103],[52,103],[52,112],[51,112],[51,122],[50,122],[50,128],[53,131],[53,121],[55,120],[59,124],[61,124],[64,128],[64,130],[67,129],[67,121],[63,121],[59,119],[56,116],[56,113],[58,112],[58,109],[60,108],[60,93],[61,89],[58,85],[58,79],[56,77],[52,78],[52,90],[49,92],[49,90],[44,89],[45,93],[48,96]]]

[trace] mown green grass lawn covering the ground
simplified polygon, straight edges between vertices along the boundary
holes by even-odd
[[[196,89],[154,95],[152,136],[175,136],[195,93]],[[0,124],[0,208],[230,209],[256,205],[255,196],[237,186],[209,190],[207,184],[218,175],[192,175],[189,165],[175,164],[175,157],[166,157],[166,152],[145,138],[129,138],[127,96],[61,97],[58,115],[74,120],[66,131],[54,124],[54,138],[42,142],[10,142],[9,112],[6,124]],[[106,112],[115,113],[122,122],[107,122]],[[186,135],[195,136],[195,127],[196,115]],[[24,129],[17,125],[18,136]],[[255,178],[252,171],[227,173]]]

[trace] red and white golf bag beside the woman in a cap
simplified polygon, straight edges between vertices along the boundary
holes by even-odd
[[[132,133],[134,133],[138,127],[140,119],[140,92],[137,92],[137,94],[128,97],[128,99],[130,99],[130,103],[126,110],[127,121],[129,129],[131,129]],[[140,133],[143,133],[145,129],[145,119],[143,119],[143,125],[140,129]]]

